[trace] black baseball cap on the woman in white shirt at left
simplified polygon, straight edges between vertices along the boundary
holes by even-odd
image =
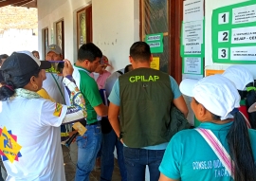
[[[2,64],[1,70],[5,78],[23,76],[39,69],[48,69],[51,64],[40,61],[30,51],[13,52]]]

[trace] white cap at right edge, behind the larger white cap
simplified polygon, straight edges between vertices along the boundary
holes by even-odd
[[[224,77],[228,78],[236,86],[237,90],[245,90],[248,83],[253,82],[253,75],[248,71],[248,69],[241,65],[231,65],[222,74]]]

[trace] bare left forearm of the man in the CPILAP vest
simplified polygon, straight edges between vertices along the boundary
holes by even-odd
[[[119,106],[110,102],[108,109],[108,119],[117,136],[120,136]]]

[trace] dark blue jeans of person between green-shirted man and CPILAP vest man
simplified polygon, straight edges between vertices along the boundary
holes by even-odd
[[[118,140],[118,136],[113,130],[108,134],[102,134],[101,144],[101,181],[112,180],[115,146],[117,148],[121,181],[127,181],[127,172],[123,159],[123,146],[122,143]]]

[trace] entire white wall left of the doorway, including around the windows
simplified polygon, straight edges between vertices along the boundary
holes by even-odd
[[[93,42],[108,57],[114,69],[129,63],[129,48],[139,40],[138,0],[38,0],[39,51],[42,54],[42,29],[48,27],[48,42],[55,44],[55,23],[64,19],[64,56],[77,59],[78,10],[92,3]],[[50,6],[49,6],[50,5]]]

